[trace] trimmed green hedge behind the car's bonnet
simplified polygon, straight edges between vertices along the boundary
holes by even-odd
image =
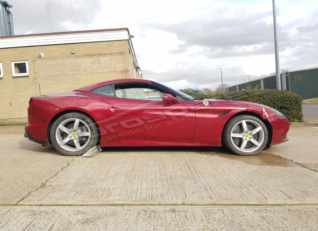
[[[202,99],[225,99],[263,104],[280,111],[291,122],[302,121],[301,96],[293,92],[280,90],[249,90],[208,95],[193,92],[185,93],[192,97]]]

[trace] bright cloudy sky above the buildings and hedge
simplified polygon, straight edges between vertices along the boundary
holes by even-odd
[[[275,71],[272,0],[7,0],[15,34],[128,27],[145,79],[229,85]],[[280,68],[318,66],[317,0],[276,0]]]

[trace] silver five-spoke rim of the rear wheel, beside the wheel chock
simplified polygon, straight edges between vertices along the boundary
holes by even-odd
[[[55,131],[55,138],[61,148],[76,152],[88,145],[91,130],[83,120],[70,118],[59,124]]]

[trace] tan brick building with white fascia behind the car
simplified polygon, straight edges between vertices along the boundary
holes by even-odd
[[[128,28],[0,37],[0,125],[26,124],[31,96],[142,78]]]

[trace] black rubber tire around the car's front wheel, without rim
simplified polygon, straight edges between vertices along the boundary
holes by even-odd
[[[257,148],[257,146],[254,146],[257,149],[254,151],[251,151],[251,152],[247,152],[247,151],[242,152],[242,151],[238,150],[234,146],[234,144],[232,143],[232,137],[231,137],[232,129],[234,128],[234,126],[237,123],[239,123],[240,121],[243,121],[243,120],[255,121],[256,123],[258,123],[262,127],[262,129],[264,131],[263,143],[261,143],[261,146],[259,146],[258,148]],[[251,125],[249,125],[249,126],[251,126]],[[240,139],[240,138],[238,138],[238,139]],[[242,139],[245,139],[245,137]],[[249,139],[249,138],[247,138],[247,139]],[[265,146],[267,144],[267,140],[268,140],[268,131],[267,131],[267,128],[266,128],[264,122],[261,121],[260,119],[258,119],[257,117],[251,116],[251,115],[239,115],[239,116],[233,117],[232,119],[230,119],[226,123],[225,128],[223,130],[223,134],[222,134],[222,141],[223,141],[224,145],[227,147],[227,149],[229,149],[231,152],[233,152],[235,154],[242,155],[242,156],[252,156],[252,155],[255,155],[255,154],[263,151],[263,149],[265,148]],[[247,140],[247,141],[249,141],[249,140]],[[251,145],[252,143],[248,142],[248,144]]]

